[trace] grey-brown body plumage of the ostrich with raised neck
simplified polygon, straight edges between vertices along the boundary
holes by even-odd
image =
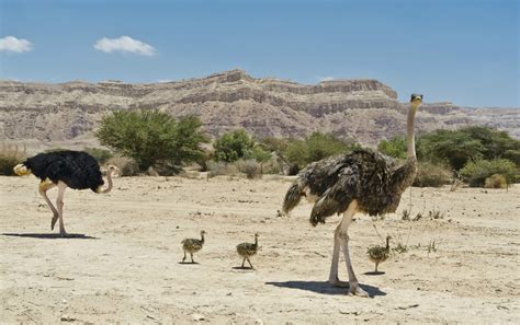
[[[287,190],[284,212],[297,206],[302,196],[318,197],[310,213],[316,225],[334,213],[342,213],[352,200],[370,216],[394,212],[403,191],[417,174],[417,161],[407,160],[399,167],[392,160],[370,149],[331,156],[302,170]]]

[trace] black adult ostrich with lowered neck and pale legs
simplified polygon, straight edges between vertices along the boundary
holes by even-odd
[[[87,152],[60,150],[39,153],[14,166],[14,173],[20,176],[34,174],[41,181],[38,191],[53,211],[50,230],[54,230],[59,219],[59,234],[66,236],[64,225],[64,194],[67,187],[74,189],[90,188],[95,193],[109,193],[112,190],[112,174],[117,171],[116,166],[110,165],[106,178],[109,185],[102,188],[104,182],[101,177],[98,161]],[[47,190],[57,186],[58,197],[56,207],[53,206],[47,196]]]

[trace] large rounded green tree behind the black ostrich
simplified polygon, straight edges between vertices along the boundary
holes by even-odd
[[[176,120],[157,109],[117,111],[101,119],[95,136],[101,144],[134,159],[142,171],[150,166],[180,166],[204,155],[201,143],[208,139],[194,116]]]

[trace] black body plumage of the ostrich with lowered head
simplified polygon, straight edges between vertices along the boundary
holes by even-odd
[[[61,181],[74,189],[99,191],[104,184],[98,161],[82,151],[38,153],[22,164],[42,181],[48,178],[55,184]]]

